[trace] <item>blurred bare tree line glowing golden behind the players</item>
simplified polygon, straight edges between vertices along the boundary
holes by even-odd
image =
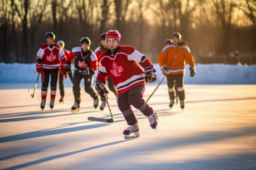
[[[178,31],[194,56],[256,53],[255,0],[2,0],[0,62],[35,63],[53,31],[66,49],[117,29],[121,45],[138,49],[157,63],[163,42]]]

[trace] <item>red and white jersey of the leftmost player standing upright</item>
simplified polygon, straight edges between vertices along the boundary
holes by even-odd
[[[44,69],[53,70],[59,68],[61,61],[65,60],[65,52],[57,43],[53,43],[52,48],[45,43],[38,50],[36,58],[41,60]]]

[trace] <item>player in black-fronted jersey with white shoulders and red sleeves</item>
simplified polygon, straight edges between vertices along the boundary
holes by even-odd
[[[93,83],[93,74],[98,69],[98,60],[96,54],[90,49],[89,37],[82,37],[81,46],[74,47],[66,59],[66,71],[70,71],[70,66],[74,58],[75,72],[73,79],[73,93],[75,104],[72,106],[72,112],[78,112],[81,103],[81,79],[84,79],[84,91],[93,98],[93,106],[95,109],[99,105],[99,97],[96,91],[91,87]]]

